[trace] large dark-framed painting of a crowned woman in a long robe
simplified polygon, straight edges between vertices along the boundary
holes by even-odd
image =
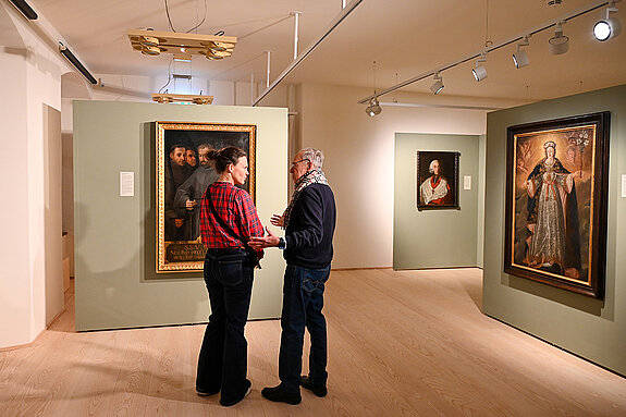
[[[602,298],[610,113],[511,126],[504,272]]]

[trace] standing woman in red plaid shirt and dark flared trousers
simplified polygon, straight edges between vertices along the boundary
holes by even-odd
[[[196,392],[212,395],[221,390],[220,404],[230,406],[242,401],[251,387],[246,379],[244,328],[253,272],[262,249],[255,252],[247,242],[251,236],[262,236],[263,229],[249,194],[235,186],[244,184],[249,175],[246,154],[229,147],[211,158],[220,177],[207,188],[200,207],[211,316],[200,348]]]

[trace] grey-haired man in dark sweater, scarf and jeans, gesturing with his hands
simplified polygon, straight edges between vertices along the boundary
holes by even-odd
[[[336,209],[334,195],[321,170],[323,154],[306,148],[294,157],[291,174],[294,195],[283,216],[274,214],[273,225],[285,229],[278,237],[266,228],[267,235],[253,237],[254,248],[277,246],[286,260],[281,318],[279,377],[281,383],[265,388],[261,394],[275,402],[298,404],[299,387],[317,396],[327,394],[327,328],[322,314],[324,284],[333,256]],[[310,334],[309,373],[300,377],[305,327]]]

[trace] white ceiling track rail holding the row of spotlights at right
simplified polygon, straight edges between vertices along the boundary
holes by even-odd
[[[548,22],[548,23],[544,23],[544,24],[542,24],[542,25],[539,25],[539,26],[536,26],[536,27],[530,28],[530,29],[528,29],[528,30],[525,30],[524,33],[521,33],[521,34],[519,34],[519,35],[516,35],[516,36],[514,36],[514,37],[512,37],[512,38],[508,38],[508,39],[502,40],[502,41],[500,41],[500,42],[493,44],[493,45],[491,45],[491,46],[489,46],[489,47],[482,48],[482,49],[480,49],[480,50],[477,51],[477,52],[474,52],[474,53],[471,53],[471,54],[469,54],[469,56],[463,57],[463,58],[461,58],[461,59],[458,59],[458,60],[456,60],[456,61],[449,62],[449,63],[446,63],[446,64],[443,64],[443,65],[441,65],[441,66],[438,66],[438,68],[434,69],[434,70],[431,70],[431,71],[425,72],[425,73],[422,73],[422,74],[419,74],[419,75],[417,75],[417,76],[415,76],[415,77],[413,77],[413,78],[406,79],[406,81],[404,81],[404,82],[402,82],[402,83],[398,83],[398,84],[396,84],[396,85],[394,85],[394,86],[392,86],[392,87],[389,87],[388,89],[384,89],[384,90],[382,90],[382,91],[380,91],[380,93],[377,93],[377,94],[373,94],[373,95],[364,97],[364,98],[361,98],[360,100],[358,100],[358,103],[360,103],[360,105],[369,103],[370,100],[372,100],[372,99],[378,99],[378,97],[380,97],[380,96],[384,96],[385,94],[395,91],[396,89],[400,89],[400,88],[403,88],[403,87],[406,87],[406,86],[409,85],[409,84],[413,84],[413,83],[416,83],[416,82],[418,82],[418,81],[421,81],[421,79],[431,77],[431,76],[433,76],[433,75],[437,74],[437,73],[441,73],[441,72],[443,72],[443,71],[445,71],[445,70],[450,70],[450,69],[452,69],[452,68],[454,68],[454,66],[456,66],[456,65],[461,65],[461,64],[463,64],[463,63],[465,63],[465,62],[468,62],[468,61],[478,59],[478,58],[480,58],[481,56],[483,56],[483,54],[486,54],[486,53],[489,53],[489,52],[491,52],[491,51],[494,51],[494,50],[498,50],[498,49],[500,49],[500,48],[506,47],[506,46],[508,46],[508,45],[511,45],[511,44],[517,42],[517,41],[524,39],[525,37],[530,37],[530,36],[535,35],[535,34],[538,34],[538,33],[543,32],[543,30],[545,30],[545,29],[549,29],[549,28],[551,28],[551,27],[555,27],[555,26],[556,26],[557,24],[560,24],[560,23],[568,22],[568,21],[570,21],[570,20],[573,20],[573,19],[576,19],[576,17],[578,17],[578,16],[581,16],[581,15],[584,15],[584,14],[587,14],[587,13],[593,11],[593,10],[598,10],[598,9],[600,9],[600,8],[603,8],[603,7],[605,7],[606,4],[609,4],[610,2],[611,2],[611,1],[606,1],[606,0],[604,0],[604,1],[599,1],[599,2],[594,2],[594,3],[591,4],[591,5],[586,5],[586,7],[582,7],[582,8],[580,8],[580,9],[577,9],[577,10],[575,10],[574,12],[566,13],[566,14],[560,16],[560,17],[556,17],[556,19],[554,19],[554,20]]]

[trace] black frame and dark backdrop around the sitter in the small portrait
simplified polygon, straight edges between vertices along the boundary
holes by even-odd
[[[441,210],[441,209],[461,209],[458,205],[458,157],[459,152],[442,150],[418,150],[417,151],[417,209],[418,210]],[[450,185],[452,200],[443,205],[428,205],[421,197],[421,184],[432,174],[429,172],[431,161],[440,161],[442,176]]]

